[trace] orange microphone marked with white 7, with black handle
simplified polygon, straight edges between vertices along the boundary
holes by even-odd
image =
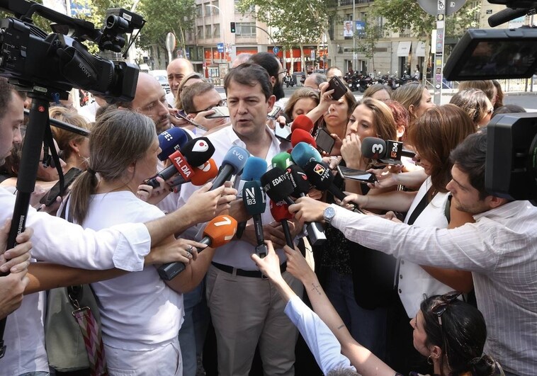
[[[203,239],[200,240],[201,244],[207,244],[212,248],[217,248],[227,244],[235,235],[237,230],[237,221],[229,215],[219,215],[213,218],[203,230]],[[203,249],[198,249],[198,252]],[[171,280],[176,275],[185,270],[184,263],[166,263],[160,266],[157,270],[160,278],[163,280]]]

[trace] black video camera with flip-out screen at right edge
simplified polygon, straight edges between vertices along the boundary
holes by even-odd
[[[533,14],[537,1],[489,0],[507,8],[489,18],[494,27]],[[453,49],[444,74],[449,81],[530,78],[537,71],[537,28],[468,30]],[[485,188],[537,206],[537,116],[496,115],[487,125]]]

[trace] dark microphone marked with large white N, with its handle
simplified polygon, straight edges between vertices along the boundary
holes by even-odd
[[[260,181],[254,180],[244,183],[242,202],[248,214],[254,219],[254,230],[257,241],[256,253],[259,257],[263,258],[268,253],[263,234],[263,222],[261,221],[261,214],[265,212],[266,208],[266,198]]]

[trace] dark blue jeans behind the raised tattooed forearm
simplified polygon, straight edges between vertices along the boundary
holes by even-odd
[[[388,309],[363,309],[356,304],[352,275],[330,270],[325,290],[353,338],[384,360]]]

